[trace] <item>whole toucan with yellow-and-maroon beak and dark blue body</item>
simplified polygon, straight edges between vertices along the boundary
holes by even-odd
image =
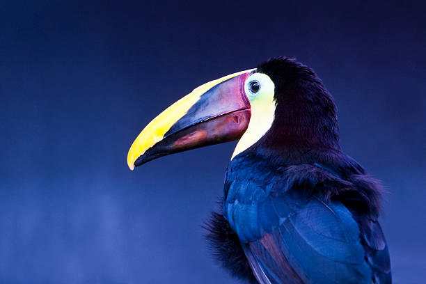
[[[391,283],[378,221],[381,183],[339,145],[336,105],[317,74],[278,57],[194,89],[152,120],[136,166],[238,140],[223,207],[205,228],[214,257],[248,283]]]

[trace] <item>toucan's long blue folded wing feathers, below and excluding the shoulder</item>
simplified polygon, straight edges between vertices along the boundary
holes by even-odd
[[[269,279],[261,283],[391,283],[379,223],[365,218],[359,232],[351,219],[341,204],[312,200],[245,253]]]

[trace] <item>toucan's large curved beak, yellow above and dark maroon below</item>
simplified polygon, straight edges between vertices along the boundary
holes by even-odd
[[[250,120],[244,82],[253,70],[199,86],[160,113],[130,147],[129,168],[175,152],[239,139]]]

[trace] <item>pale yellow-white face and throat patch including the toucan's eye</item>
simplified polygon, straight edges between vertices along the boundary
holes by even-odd
[[[276,103],[275,85],[267,74],[253,73],[244,83],[244,92],[250,101],[251,118],[246,132],[235,147],[231,160],[251,145],[259,141],[271,128],[274,121]]]

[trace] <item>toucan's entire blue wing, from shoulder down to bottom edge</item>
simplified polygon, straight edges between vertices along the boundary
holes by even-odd
[[[283,194],[250,179],[228,177],[227,186],[224,214],[260,283],[390,283],[377,222],[360,224],[338,201]]]

